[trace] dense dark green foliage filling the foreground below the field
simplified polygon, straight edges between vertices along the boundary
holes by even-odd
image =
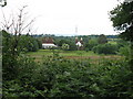
[[[48,56],[40,66],[28,61],[21,68],[23,70],[16,79],[4,80],[4,98],[133,98],[133,73],[125,61],[103,59],[98,65]]]

